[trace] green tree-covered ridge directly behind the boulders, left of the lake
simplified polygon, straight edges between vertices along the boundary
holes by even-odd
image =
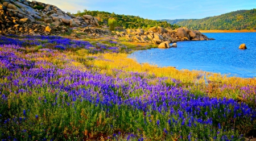
[[[172,25],[166,21],[156,21],[156,20],[151,20],[151,19],[144,19],[139,16],[131,16],[131,15],[119,15],[115,13],[108,13],[104,11],[89,11],[89,10],[84,10],[83,12],[78,11],[77,15],[92,15],[97,17],[98,22],[102,24],[108,24],[109,19],[115,19],[117,21],[117,27],[122,27],[122,28],[130,28],[130,29],[135,29],[135,28],[143,28],[143,29],[148,29],[151,27],[163,27],[163,28],[178,28],[176,24]]]

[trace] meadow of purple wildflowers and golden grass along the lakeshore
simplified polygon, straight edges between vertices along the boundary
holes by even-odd
[[[1,140],[245,140],[256,80],[128,59],[153,46],[0,36]]]

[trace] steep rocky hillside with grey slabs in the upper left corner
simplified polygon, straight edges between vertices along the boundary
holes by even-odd
[[[0,1],[0,34],[59,35],[68,32],[67,27],[85,26],[99,26],[97,18],[75,16],[37,1]]]

